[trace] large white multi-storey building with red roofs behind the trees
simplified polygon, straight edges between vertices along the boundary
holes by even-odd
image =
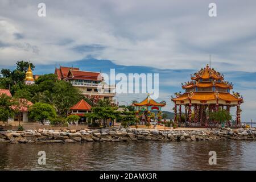
[[[86,97],[93,97],[96,100],[105,98],[113,101],[115,96],[115,85],[104,84],[104,77],[100,72],[80,71],[79,68],[73,67],[60,67],[55,69],[55,75],[59,80],[71,82]],[[102,92],[98,92],[99,85],[104,88]]]

